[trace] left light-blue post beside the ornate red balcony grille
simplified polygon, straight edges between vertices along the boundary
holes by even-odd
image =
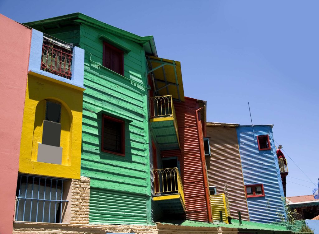
[[[40,70],[41,68],[42,41],[43,33],[32,29],[29,70]]]

